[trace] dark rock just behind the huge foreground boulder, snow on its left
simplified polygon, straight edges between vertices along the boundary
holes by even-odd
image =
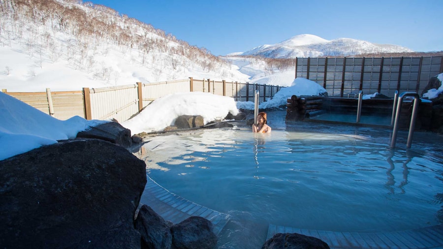
[[[77,133],[78,138],[96,138],[129,148],[131,131],[117,122],[107,122]]]

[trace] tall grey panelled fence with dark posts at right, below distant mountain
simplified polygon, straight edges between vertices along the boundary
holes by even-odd
[[[349,93],[421,92],[429,79],[443,72],[443,57],[296,58],[295,78],[315,81],[329,96]]]

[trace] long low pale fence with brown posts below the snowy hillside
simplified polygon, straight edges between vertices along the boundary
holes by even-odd
[[[83,88],[83,91],[42,93],[7,93],[36,109],[60,120],[80,116],[87,120],[116,119],[126,121],[138,114],[155,99],[186,92],[204,92],[233,97],[235,101],[253,101],[254,91],[259,90],[259,102],[274,96],[282,87],[240,82],[189,79],[158,83]]]

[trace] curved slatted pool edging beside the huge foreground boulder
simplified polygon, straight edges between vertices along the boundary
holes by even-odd
[[[159,216],[174,224],[191,216],[206,218],[214,225],[214,233],[219,234],[229,220],[229,216],[212,209],[205,208],[159,186],[154,180],[147,176],[147,183],[143,192],[140,205],[150,206]],[[149,203],[146,200],[149,200]]]

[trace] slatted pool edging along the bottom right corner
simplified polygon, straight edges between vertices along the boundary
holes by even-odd
[[[269,240],[277,233],[299,233],[316,237],[326,242],[331,249],[443,248],[443,225],[384,233],[346,233],[269,225],[266,240]]]

